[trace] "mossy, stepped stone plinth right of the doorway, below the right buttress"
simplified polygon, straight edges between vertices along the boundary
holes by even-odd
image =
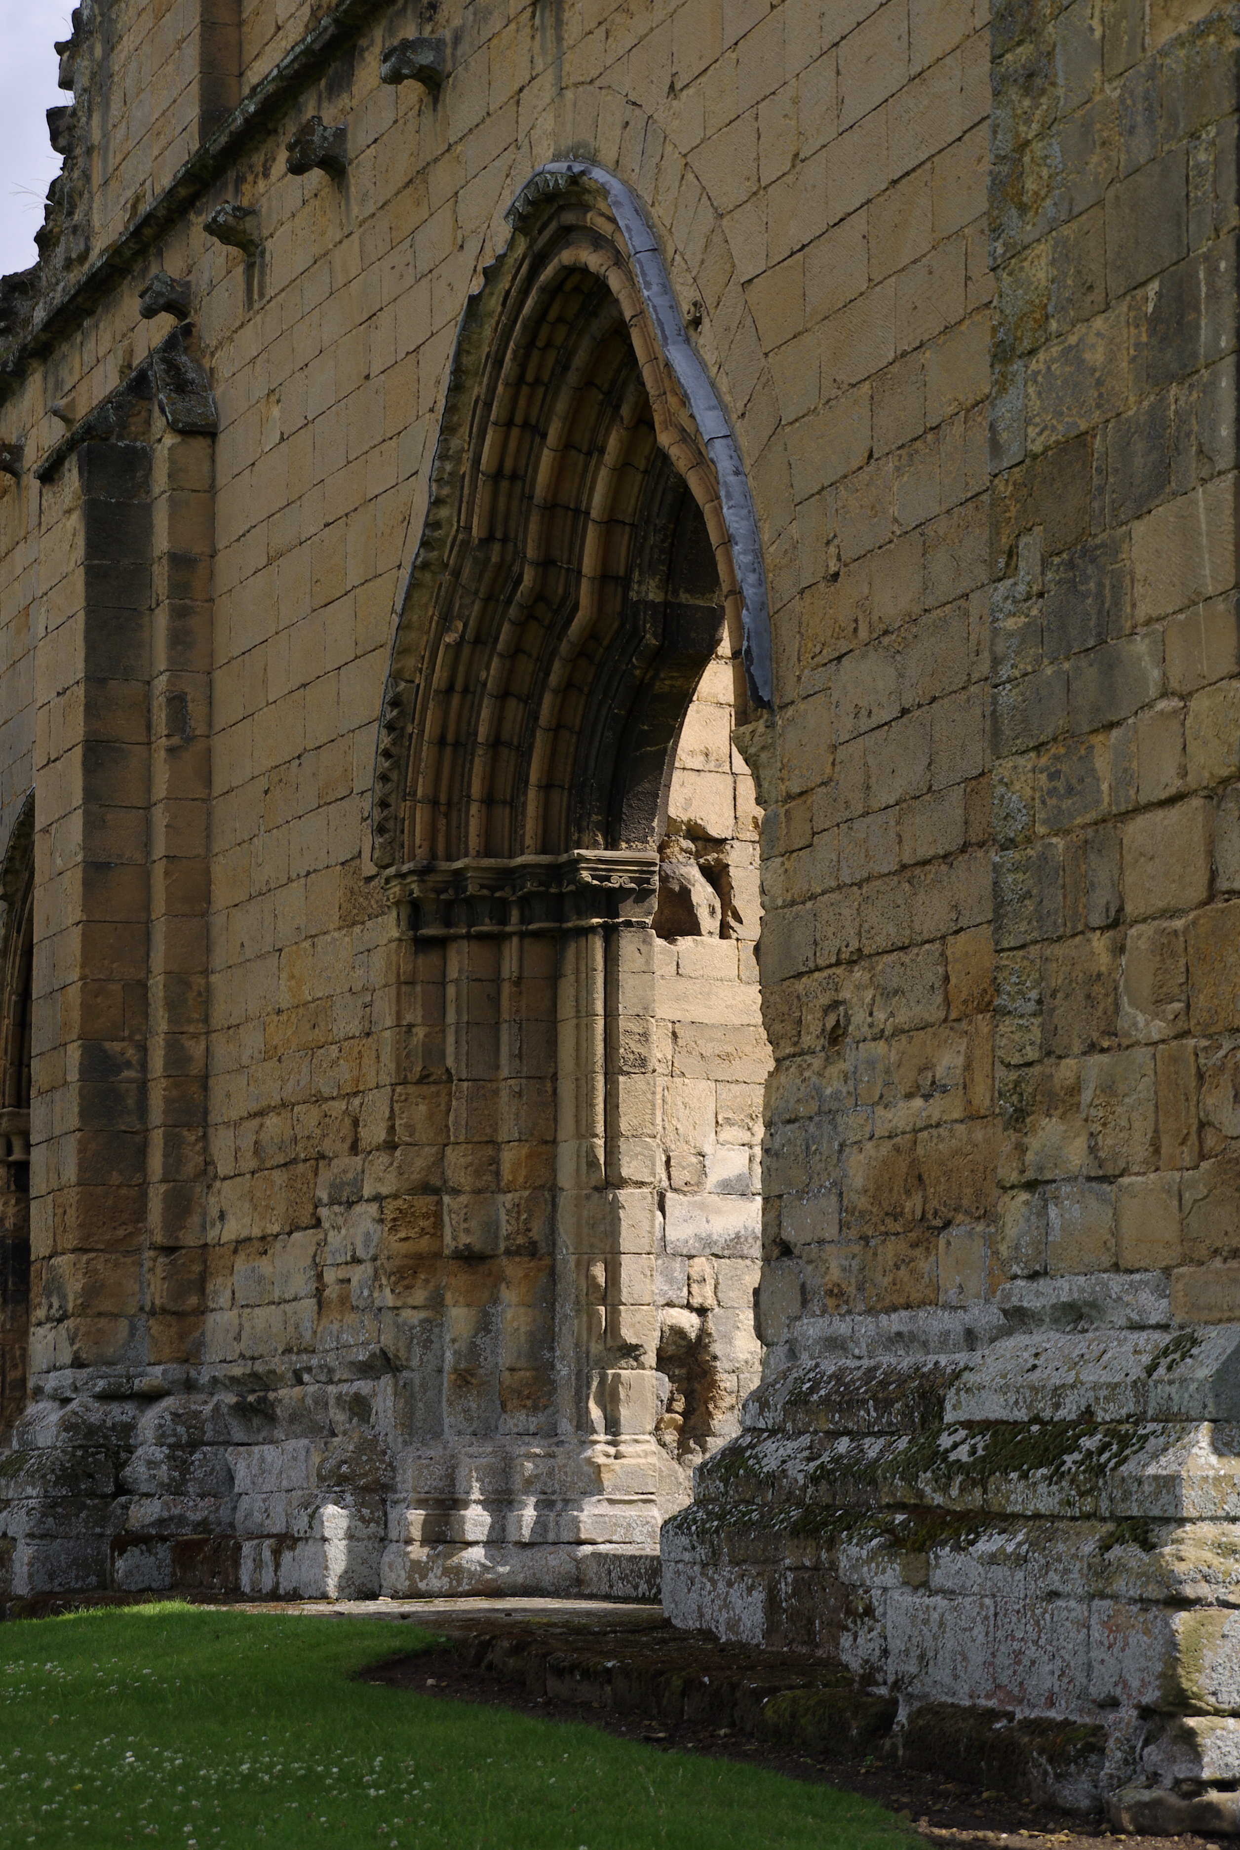
[[[933,1704],[1101,1728],[1105,1752],[1048,1794],[1064,1806],[1135,1785],[1221,1802],[1240,1782],[1238,1452],[1227,1328],[801,1362],[664,1524],[664,1610],[822,1654],[899,1700],[898,1732]]]

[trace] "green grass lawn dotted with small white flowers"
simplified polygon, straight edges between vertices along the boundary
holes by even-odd
[[[849,1793],[350,1678],[426,1641],[172,1604],[6,1624],[0,1844],[911,1844]]]

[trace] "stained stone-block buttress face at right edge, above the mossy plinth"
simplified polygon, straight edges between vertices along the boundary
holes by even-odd
[[[1068,11],[996,35],[999,1271],[1151,1275],[1177,1321],[1220,1323],[1236,96],[1231,28],[1177,24]],[[1055,113],[1014,76],[1051,65]],[[1066,194],[1051,168],[1083,141]]]

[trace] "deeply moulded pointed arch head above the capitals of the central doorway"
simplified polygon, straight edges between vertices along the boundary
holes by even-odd
[[[385,688],[389,868],[650,853],[724,627],[738,707],[772,697],[750,488],[639,202],[557,161],[505,216],[457,335]]]

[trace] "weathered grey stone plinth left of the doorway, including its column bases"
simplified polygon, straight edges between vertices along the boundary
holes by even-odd
[[[651,1439],[402,1447],[389,1380],[67,1378],[0,1462],[0,1600],[655,1598]]]

